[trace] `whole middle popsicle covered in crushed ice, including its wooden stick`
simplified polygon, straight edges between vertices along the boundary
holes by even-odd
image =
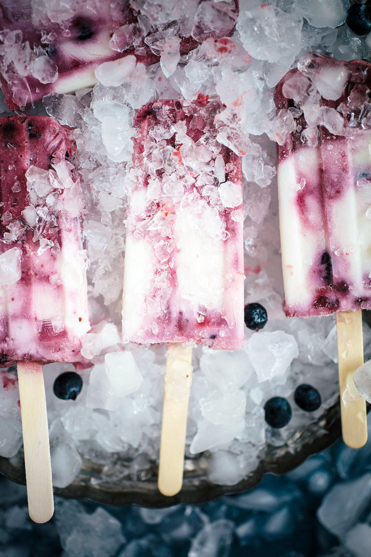
[[[182,485],[192,346],[235,350],[245,340],[241,158],[217,141],[221,109],[200,95],[149,103],[135,117],[122,334],[169,346],[164,495]]]

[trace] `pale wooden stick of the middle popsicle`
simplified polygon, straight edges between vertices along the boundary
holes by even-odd
[[[158,486],[162,495],[168,497],[176,495],[183,483],[191,361],[192,348],[181,344],[167,346]]]

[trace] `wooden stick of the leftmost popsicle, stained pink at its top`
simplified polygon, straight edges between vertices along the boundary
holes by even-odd
[[[54,512],[44,374],[42,366],[33,361],[18,361],[17,370],[28,514],[42,524]]]

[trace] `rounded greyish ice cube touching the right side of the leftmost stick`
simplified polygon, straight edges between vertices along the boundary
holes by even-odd
[[[50,453],[53,486],[67,487],[81,470],[81,456],[75,447],[67,443],[58,444]]]

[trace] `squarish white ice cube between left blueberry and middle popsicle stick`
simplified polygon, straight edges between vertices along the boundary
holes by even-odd
[[[113,393],[126,397],[140,389],[143,377],[131,352],[111,352],[105,355],[105,370]]]

